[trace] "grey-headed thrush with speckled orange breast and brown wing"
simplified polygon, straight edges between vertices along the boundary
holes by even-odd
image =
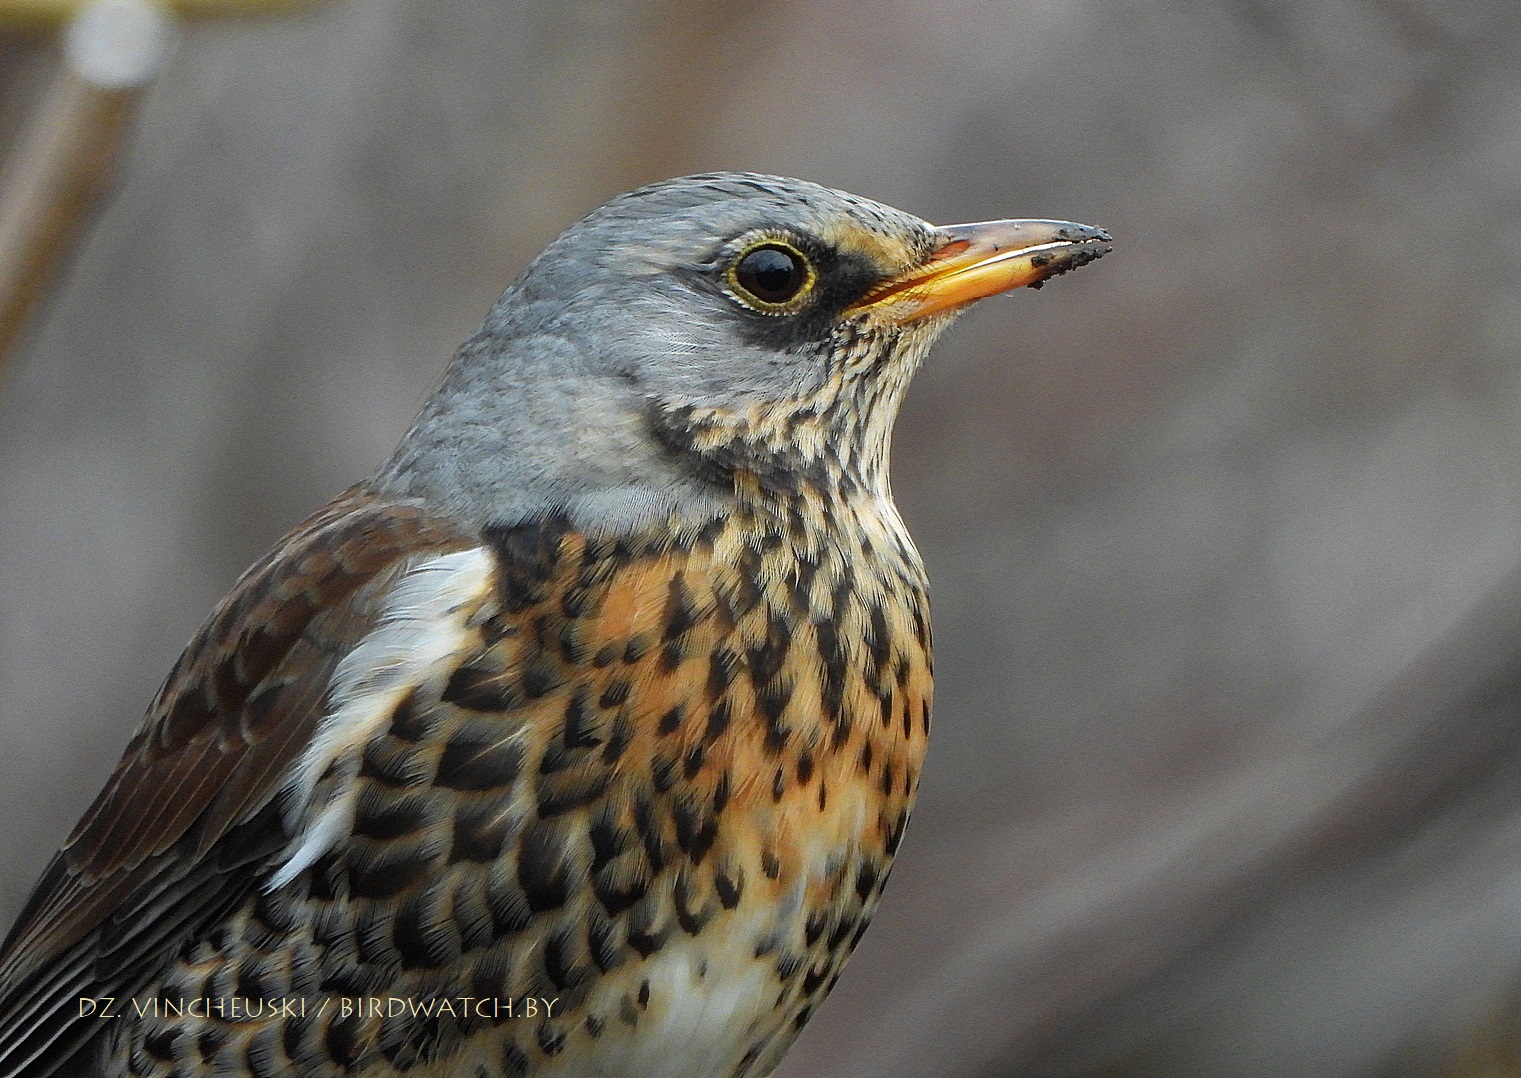
[[[175,663],[0,949],[0,1075],[771,1073],[929,734],[899,403],[1110,246],[757,173],[573,224]]]

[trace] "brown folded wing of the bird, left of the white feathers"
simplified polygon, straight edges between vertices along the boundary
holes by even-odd
[[[169,941],[240,900],[251,874],[236,870],[289,839],[278,778],[339,658],[409,560],[475,541],[356,487],[239,579],[0,949],[0,1073],[65,1057],[93,1032],[68,1022],[76,996],[125,996]]]

